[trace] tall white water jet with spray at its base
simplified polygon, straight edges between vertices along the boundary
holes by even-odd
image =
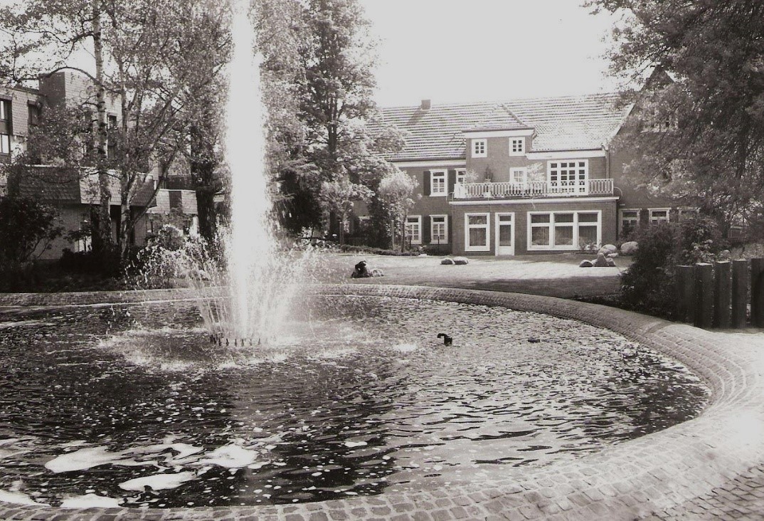
[[[206,298],[206,281],[195,280],[199,309],[219,346],[262,345],[277,335],[298,286],[304,254],[280,251],[269,222],[270,190],[264,167],[264,106],[258,53],[247,0],[231,0],[233,50],[228,65],[225,150],[231,172],[231,225],[223,232],[227,265],[221,271],[198,248],[186,271],[209,275],[228,293]]]

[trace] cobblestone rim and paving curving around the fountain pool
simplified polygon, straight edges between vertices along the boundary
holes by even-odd
[[[707,332],[549,296],[414,286],[322,286],[323,293],[390,295],[504,306],[613,329],[688,365],[711,387],[701,416],[575,461],[497,471],[448,489],[322,503],[187,510],[57,510],[0,503],[0,519],[764,519],[764,335]],[[167,295],[157,293],[158,298]],[[127,298],[127,297],[120,297]]]

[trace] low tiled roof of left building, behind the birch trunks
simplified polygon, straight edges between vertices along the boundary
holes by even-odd
[[[98,176],[67,167],[15,167],[8,180],[8,191],[52,204],[99,204]],[[109,177],[112,205],[119,204],[120,185],[116,176]],[[154,189],[144,183],[135,189],[132,206],[152,205]]]

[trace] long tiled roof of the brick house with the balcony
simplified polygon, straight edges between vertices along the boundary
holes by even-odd
[[[464,131],[535,129],[532,151],[593,150],[610,141],[626,116],[617,94],[382,108],[384,121],[408,133],[391,160],[464,159]]]

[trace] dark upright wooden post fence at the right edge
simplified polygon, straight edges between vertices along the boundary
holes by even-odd
[[[676,268],[680,322],[699,328],[764,328],[764,258]]]

